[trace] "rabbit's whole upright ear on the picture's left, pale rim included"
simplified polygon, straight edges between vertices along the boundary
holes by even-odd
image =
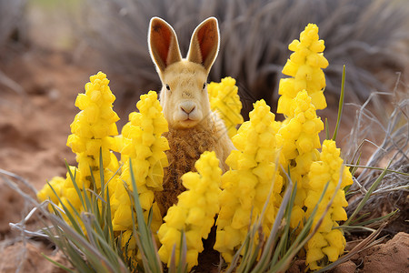
[[[160,72],[182,60],[175,30],[159,17],[153,17],[149,24],[148,45],[152,60]]]

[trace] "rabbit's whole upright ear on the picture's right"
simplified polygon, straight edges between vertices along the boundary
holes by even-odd
[[[187,59],[205,66],[207,72],[214,63],[219,51],[219,25],[214,17],[207,18],[195,29],[190,40]]]

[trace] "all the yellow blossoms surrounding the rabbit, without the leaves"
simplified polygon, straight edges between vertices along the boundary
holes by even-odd
[[[86,188],[99,193],[101,184],[111,179],[108,189],[115,236],[119,238],[121,235],[122,246],[133,262],[137,248],[132,220],[135,208],[129,197],[130,191],[134,190],[131,166],[145,221],[152,208],[151,228],[154,233],[157,231],[162,244],[159,257],[168,265],[174,248],[176,262],[180,258],[183,233],[188,269],[197,265],[198,254],[204,249],[202,238],[207,238],[216,214],[214,249],[222,253],[228,263],[244,243],[248,227],[258,217],[263,217],[263,232],[268,236],[282,202],[282,189],[288,185],[278,168],[280,165],[285,171],[289,170],[296,184],[290,219],[290,227],[296,228],[295,233],[299,233],[305,219],[311,217],[327,182],[329,186],[318,205],[314,226],[334,196],[334,203],[318,232],[305,246],[309,268],[321,268],[325,261],[334,261],[343,253],[344,235],[336,227],[338,221],[346,219],[344,207],[348,203],[344,187],[352,184],[352,177],[348,169],[343,168],[340,150],[334,141],[325,140],[322,152],[318,151],[321,147],[318,134],[324,129],[324,124],[316,116],[316,109],[326,106],[322,68],[328,66],[322,53],[324,41],[319,40],[318,27],[307,25],[300,40],[294,40],[289,49],[294,53],[284,66],[283,73],[292,77],[280,81],[279,94],[282,96],[277,106],[277,112],[285,116],[282,123],[274,120],[275,116],[264,100],[254,104],[250,120],[243,123],[235,80],[226,77],[221,83],[208,85],[211,108],[224,119],[237,150],[227,157],[226,164],[230,170],[223,176],[214,152],[205,152],[197,160],[195,168],[198,172],[189,172],[182,177],[187,190],[178,197],[177,205],[169,208],[164,224],[154,192],[163,189],[163,168],[168,166],[165,150],[169,146],[162,134],[168,128],[156,93],[150,91],[141,96],[136,105],[139,113],[129,115],[122,135],[117,136],[115,122],[119,117],[112,108],[115,96],[109,89],[109,81],[101,72],[90,77],[91,82],[85,85],[85,94],[78,95],[75,101],[81,112],[71,125],[72,135],[68,136],[67,145],[76,153],[78,167],[70,169],[75,174],[75,183],[81,194],[85,194]],[[235,126],[242,123],[237,131]],[[120,169],[112,150],[121,153]],[[105,181],[100,181],[100,151]],[[69,201],[78,211],[83,209],[68,174],[66,178],[53,178],[37,197],[41,201],[50,198],[55,203],[61,200],[65,205]]]

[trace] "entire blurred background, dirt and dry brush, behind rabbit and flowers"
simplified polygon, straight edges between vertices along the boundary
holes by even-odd
[[[221,46],[209,81],[237,80],[244,120],[260,98],[275,112],[287,46],[308,23],[319,26],[330,64],[329,107],[318,113],[330,127],[344,65],[346,102],[362,104],[395,89],[407,94],[407,0],[0,0],[0,167],[38,185],[64,174],[63,158],[75,163],[65,147],[75,96],[100,70],[111,80],[124,125],[139,96],[161,87],[147,47],[152,16],[174,26],[184,56],[195,26],[217,17]],[[373,100],[373,107],[386,109],[387,99]],[[345,107],[347,133],[355,110]]]

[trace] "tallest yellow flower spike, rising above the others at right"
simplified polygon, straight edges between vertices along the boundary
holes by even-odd
[[[278,99],[277,113],[291,116],[291,100],[302,90],[306,90],[308,96],[311,96],[316,109],[324,109],[325,76],[322,68],[328,66],[328,61],[322,53],[325,46],[324,40],[319,40],[318,26],[308,24],[301,33],[300,40],[295,39],[288,48],[294,53],[287,60],[283,74],[292,77],[280,80],[278,94],[281,96]]]

